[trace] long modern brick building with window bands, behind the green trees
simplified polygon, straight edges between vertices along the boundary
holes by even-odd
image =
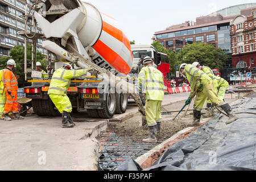
[[[166,30],[155,32],[153,40],[159,40],[167,49],[180,51],[186,44],[204,42],[220,47],[226,53],[232,54],[230,38],[230,22],[237,16],[250,15],[256,3],[230,6],[207,16],[196,18],[196,22],[170,26]],[[232,60],[226,63],[226,68],[232,68]]]

